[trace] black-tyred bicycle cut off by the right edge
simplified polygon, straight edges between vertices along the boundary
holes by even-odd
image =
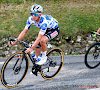
[[[95,39],[97,38],[97,36],[100,36],[100,34],[98,34],[97,32],[92,32],[91,36],[93,35],[95,35],[94,36]],[[86,51],[85,65],[89,69],[94,69],[98,67],[99,64],[100,64],[100,42],[96,42],[92,44]]]

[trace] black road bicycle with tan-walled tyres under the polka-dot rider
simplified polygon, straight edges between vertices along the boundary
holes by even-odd
[[[10,38],[10,41],[18,40]],[[44,79],[54,78],[61,70],[64,63],[64,53],[60,48],[52,48],[47,52],[47,62],[43,65],[35,64],[36,59],[31,54],[25,53],[29,44],[18,40],[20,44],[24,45],[22,52],[12,54],[3,64],[1,69],[1,82],[7,88],[16,87],[25,78],[28,68],[29,59],[32,61],[32,73],[38,75],[41,73]]]

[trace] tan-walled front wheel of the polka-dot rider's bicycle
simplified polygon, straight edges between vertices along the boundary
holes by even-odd
[[[21,69],[18,69],[18,65],[21,62],[23,55],[24,55],[24,58],[23,58],[23,61],[21,64]],[[16,61],[17,62],[16,65],[15,65],[15,63],[16,63],[15,60],[18,60],[18,62]],[[13,66],[13,64],[15,67]],[[24,66],[24,64],[25,64],[25,66]],[[5,61],[5,63],[3,64],[3,67],[1,69],[2,84],[7,88],[16,87],[25,78],[25,76],[28,72],[28,68],[29,68],[29,59],[26,54],[24,54],[23,52],[17,52],[17,53],[12,54]],[[24,70],[24,71],[21,71],[21,70]]]

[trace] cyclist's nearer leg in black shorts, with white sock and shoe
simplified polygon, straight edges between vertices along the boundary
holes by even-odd
[[[40,41],[40,45],[41,45],[41,50],[42,50],[42,57],[38,56],[38,59],[36,60],[36,64],[38,65],[42,65],[46,62],[47,60],[47,56],[46,56],[46,52],[47,52],[47,42],[49,40],[54,39],[57,35],[58,35],[58,28],[56,29],[52,29],[52,30],[47,30],[46,34],[41,38]]]

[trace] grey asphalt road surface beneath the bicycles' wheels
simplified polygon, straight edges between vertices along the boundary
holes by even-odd
[[[0,58],[0,69],[5,59]],[[60,73],[51,80],[30,74],[31,66],[25,79],[11,90],[100,90],[100,66],[88,69],[84,64],[84,55],[65,56]],[[9,90],[0,82],[0,90]]]

